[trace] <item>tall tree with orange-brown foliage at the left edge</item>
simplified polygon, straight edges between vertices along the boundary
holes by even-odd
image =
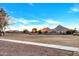
[[[0,9],[0,35],[5,35],[5,29],[8,25],[8,15],[5,11],[1,8]]]

